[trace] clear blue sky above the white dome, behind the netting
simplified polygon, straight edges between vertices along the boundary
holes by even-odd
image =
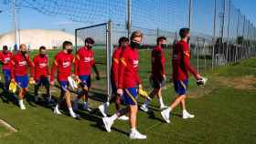
[[[0,14],[0,35],[6,32],[13,30],[13,20],[12,15],[10,14],[10,9],[6,7],[0,0],[0,10],[3,10],[3,13]],[[24,0],[25,1],[25,0]],[[28,0],[29,1],[29,0]],[[46,0],[49,1],[49,0]],[[75,0],[72,0],[75,1]],[[97,2],[96,2],[97,1]],[[107,4],[104,0],[86,0],[88,2],[84,7],[84,15],[81,15],[81,18],[91,19],[94,23],[103,22],[103,19],[112,18],[118,23],[125,21],[125,3],[119,4],[125,0],[114,0],[116,4]],[[114,2],[110,1],[110,2]],[[197,3],[197,2],[204,3]],[[96,3],[94,3],[96,2]],[[169,31],[175,31],[181,26],[187,26],[187,11],[182,11],[186,9],[188,0],[166,0],[165,3],[158,3],[159,1],[155,0],[133,0],[133,25],[146,27],[146,28],[155,28],[160,27],[165,29],[167,26]],[[101,5],[97,5],[100,4]],[[208,35],[212,34],[212,17],[209,16],[213,14],[212,6],[213,0],[195,0],[194,1],[194,10],[192,17],[192,29],[199,33],[206,33]],[[49,3],[51,4],[51,3]],[[256,25],[256,1],[254,0],[232,0],[232,4],[237,8],[240,8],[241,14],[246,15],[251,22]],[[112,7],[101,7],[104,5],[112,5]],[[74,5],[73,5],[74,6]],[[40,7],[40,6],[39,6]],[[97,8],[95,8],[97,7]],[[164,8],[159,8],[164,7]],[[70,8],[77,8],[76,6]],[[78,8],[77,8],[78,9]],[[121,10],[122,9],[122,10]],[[65,11],[65,9],[60,9]],[[67,8],[67,12],[63,12],[62,15],[52,15],[52,14],[42,14],[37,10],[22,7],[19,10],[18,16],[18,25],[20,29],[59,29],[65,30],[69,33],[74,33],[74,29],[81,26],[89,26],[93,22],[74,22],[70,20],[72,16],[67,16],[69,11],[74,9]],[[55,11],[54,11],[55,12]],[[74,11],[74,14],[77,11]],[[108,14],[108,13],[112,14]],[[167,15],[166,15],[167,14]],[[171,14],[170,16],[168,14]],[[110,15],[110,17],[108,17]],[[161,16],[159,16],[161,15]],[[78,15],[76,15],[78,16]],[[175,25],[169,25],[175,24]],[[124,25],[124,24],[122,24]]]

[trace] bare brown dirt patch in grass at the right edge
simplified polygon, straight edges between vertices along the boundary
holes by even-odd
[[[256,77],[216,77],[219,85],[234,87],[236,89],[256,90]]]

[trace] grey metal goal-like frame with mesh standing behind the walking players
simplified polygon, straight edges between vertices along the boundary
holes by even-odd
[[[112,96],[111,66],[112,66],[112,21],[93,26],[85,26],[75,29],[75,50],[84,46],[86,37],[95,41],[92,47],[96,65],[101,74],[101,80],[96,81],[92,77],[91,93],[101,95],[105,101]],[[93,73],[93,72],[92,72]],[[93,75],[93,74],[92,74]]]

